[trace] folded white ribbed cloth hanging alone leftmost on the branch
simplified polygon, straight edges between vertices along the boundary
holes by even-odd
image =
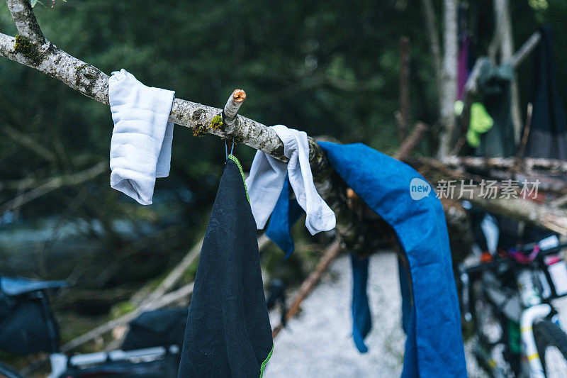
[[[108,79],[114,129],[111,187],[142,205],[152,204],[156,177],[169,176],[174,91],[146,87],[126,70]]]

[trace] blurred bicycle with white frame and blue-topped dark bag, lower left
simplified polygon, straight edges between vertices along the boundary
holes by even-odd
[[[178,345],[71,357],[60,352],[58,325],[52,315],[47,291],[66,286],[64,281],[0,277],[0,350],[21,355],[49,353],[51,372],[48,378],[177,377]],[[25,377],[0,362],[0,378]]]

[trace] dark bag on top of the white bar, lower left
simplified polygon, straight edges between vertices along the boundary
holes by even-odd
[[[159,308],[145,311],[130,322],[122,350],[183,345],[187,308]]]

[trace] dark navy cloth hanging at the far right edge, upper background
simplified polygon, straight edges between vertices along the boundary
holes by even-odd
[[[563,101],[557,89],[551,26],[539,30],[541,40],[534,54],[534,80],[529,101],[532,126],[524,155],[567,160],[567,125]]]

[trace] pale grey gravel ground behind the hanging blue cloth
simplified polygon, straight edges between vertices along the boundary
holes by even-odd
[[[405,334],[397,264],[391,252],[371,257],[368,294],[373,329],[366,337],[368,353],[360,354],[350,335],[352,277],[349,257],[342,255],[303,301],[303,311],[276,338],[264,377],[400,377]],[[566,301],[561,299],[557,304],[560,310],[567,308]],[[277,316],[272,315],[272,324],[276,324]],[[471,348],[471,343],[466,343],[468,374],[485,377]]]

